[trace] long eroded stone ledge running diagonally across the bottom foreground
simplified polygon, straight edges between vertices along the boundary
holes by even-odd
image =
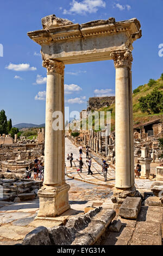
[[[115,215],[114,210],[96,208],[85,215],[73,216],[65,226],[40,226],[26,235],[22,245],[93,245]]]

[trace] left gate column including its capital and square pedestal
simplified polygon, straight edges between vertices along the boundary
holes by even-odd
[[[47,68],[45,173],[43,186],[38,192],[40,209],[37,217],[54,217],[70,208],[70,185],[65,182],[65,66],[62,62],[49,59],[42,65]],[[54,118],[59,120],[58,128],[54,125]]]

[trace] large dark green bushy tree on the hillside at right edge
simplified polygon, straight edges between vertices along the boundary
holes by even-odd
[[[140,97],[139,105],[143,113],[158,114],[163,110],[163,93],[154,89],[151,94]]]

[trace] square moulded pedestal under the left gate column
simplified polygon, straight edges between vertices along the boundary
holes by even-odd
[[[37,217],[55,217],[70,209],[68,202],[70,185],[43,185],[38,191],[40,208]]]

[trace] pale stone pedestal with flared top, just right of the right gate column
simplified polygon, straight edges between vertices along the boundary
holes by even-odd
[[[152,158],[146,157],[142,158],[140,157],[139,163],[141,165],[141,176],[140,179],[148,179],[150,175],[150,164],[152,162]]]

